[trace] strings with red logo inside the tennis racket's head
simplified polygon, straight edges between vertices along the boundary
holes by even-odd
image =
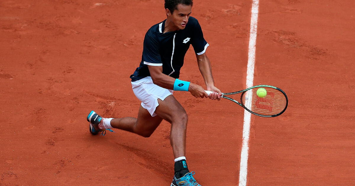
[[[262,87],[266,89],[266,96],[261,98],[256,94],[257,89],[261,87],[250,89],[241,97],[241,102],[250,111],[261,115],[276,115],[284,111],[287,106],[285,95],[272,88]]]

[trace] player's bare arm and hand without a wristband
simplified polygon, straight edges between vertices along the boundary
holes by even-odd
[[[214,86],[211,62],[209,61],[206,52],[201,55],[196,54],[196,58],[197,58],[198,68],[200,69],[204,83],[207,86],[207,90],[213,91],[213,93],[209,95],[209,98],[211,100],[220,100],[220,97],[222,96],[222,92],[217,87]]]

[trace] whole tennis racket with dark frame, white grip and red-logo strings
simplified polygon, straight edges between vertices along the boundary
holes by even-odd
[[[259,97],[256,91],[260,88],[266,89],[266,96]],[[212,91],[205,90],[209,95]],[[239,94],[240,102],[227,97],[226,95]],[[288,105],[288,98],[285,92],[271,85],[257,85],[237,92],[222,93],[223,98],[233,101],[245,108],[252,114],[261,117],[276,117],[285,112]]]

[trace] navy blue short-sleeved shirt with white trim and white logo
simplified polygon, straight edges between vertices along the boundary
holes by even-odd
[[[203,38],[200,24],[196,18],[189,17],[185,29],[164,32],[165,21],[152,26],[144,37],[142,61],[130,76],[132,81],[151,76],[148,65],[163,66],[163,73],[179,78],[180,69],[190,44],[197,55],[206,52],[209,46]]]

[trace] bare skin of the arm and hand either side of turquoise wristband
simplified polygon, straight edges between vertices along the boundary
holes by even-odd
[[[174,90],[175,78],[163,74],[163,66],[148,65],[149,73],[151,74],[153,83],[165,89]],[[190,82],[189,92],[195,97],[208,97],[202,86]]]

